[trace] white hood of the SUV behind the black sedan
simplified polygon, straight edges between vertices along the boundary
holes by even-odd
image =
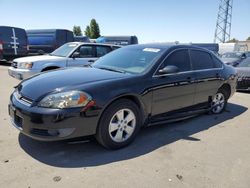
[[[59,56],[52,56],[52,55],[38,55],[38,56],[29,56],[29,57],[21,57],[14,59],[17,63],[24,63],[24,62],[37,62],[37,61],[58,61],[66,59],[66,57],[59,57]]]

